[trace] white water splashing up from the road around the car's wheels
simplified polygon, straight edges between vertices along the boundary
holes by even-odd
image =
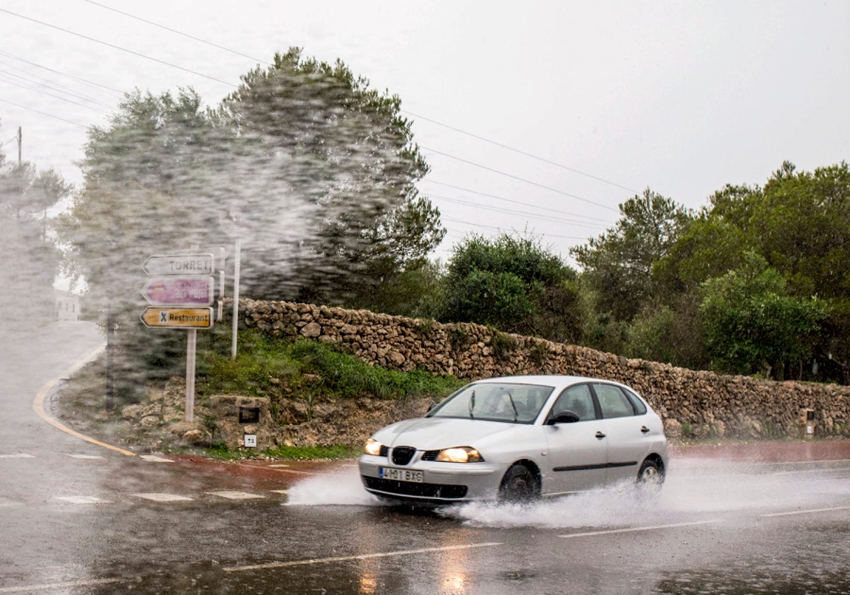
[[[782,467],[778,467],[780,470]],[[668,474],[660,493],[626,482],[599,490],[544,500],[532,505],[471,502],[443,507],[439,513],[479,527],[617,527],[669,522],[671,514],[789,511],[804,507],[847,505],[850,478],[836,472],[789,470],[764,473],[765,467],[682,468]],[[381,506],[360,483],[356,467],[304,479],[292,485],[286,506]]]

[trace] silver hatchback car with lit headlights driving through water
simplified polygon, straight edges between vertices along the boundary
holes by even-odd
[[[382,498],[527,501],[624,480],[660,485],[667,440],[660,417],[624,384],[500,377],[378,430],[359,465],[365,489]]]

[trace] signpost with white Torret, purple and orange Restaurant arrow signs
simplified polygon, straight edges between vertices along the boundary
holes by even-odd
[[[224,269],[224,248],[219,269]],[[212,328],[215,314],[208,306],[215,299],[216,258],[210,252],[179,252],[148,257],[142,269],[151,278],[141,289],[150,303],[139,316],[149,328],[180,328],[189,331],[186,344],[186,421],[191,422],[195,406],[195,347],[197,330]],[[222,275],[224,293],[224,275]],[[220,304],[220,302],[219,302]],[[199,306],[206,306],[201,308]]]

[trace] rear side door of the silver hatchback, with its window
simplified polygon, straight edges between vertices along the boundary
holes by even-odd
[[[644,416],[637,415],[632,401],[619,386],[594,382],[592,388],[605,421],[604,440],[608,446],[605,483],[611,485],[638,477],[638,467],[651,442]]]

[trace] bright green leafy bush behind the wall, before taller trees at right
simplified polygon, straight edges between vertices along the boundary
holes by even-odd
[[[700,320],[720,371],[785,377],[785,366],[812,354],[812,340],[829,305],[789,295],[788,284],[755,252],[739,269],[701,286]]]

